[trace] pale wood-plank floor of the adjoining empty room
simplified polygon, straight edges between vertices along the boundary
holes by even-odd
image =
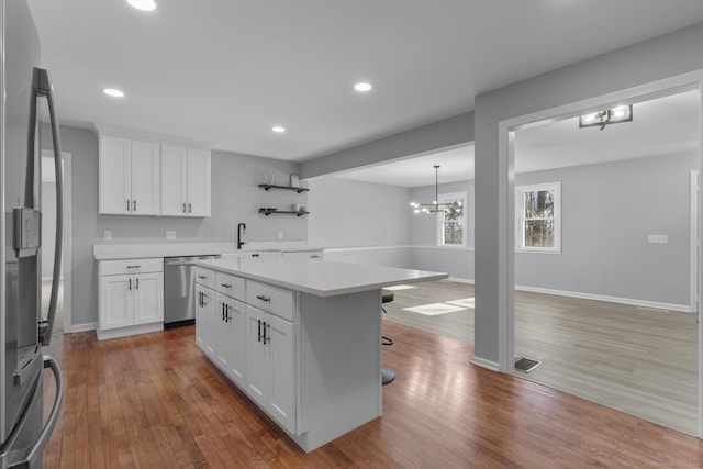
[[[473,297],[473,286],[419,283],[387,303],[390,321],[473,343],[473,310],[437,316],[403,308]],[[395,337],[392,337],[393,339]],[[698,433],[695,315],[515,292],[515,353],[540,360],[528,379],[680,432]]]

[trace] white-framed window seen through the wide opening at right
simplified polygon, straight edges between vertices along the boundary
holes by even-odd
[[[515,188],[520,250],[561,252],[561,182]]]

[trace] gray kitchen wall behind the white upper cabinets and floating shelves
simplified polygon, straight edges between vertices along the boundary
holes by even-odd
[[[280,182],[289,174],[299,172],[298,164],[213,150],[211,217],[98,215],[98,138],[85,129],[62,126],[60,132],[62,149],[72,157],[71,324],[98,321],[98,267],[92,255],[96,244],[166,243],[167,230],[175,230],[176,242],[180,243],[232,242],[238,222],[247,224],[246,238],[250,241],[277,241],[279,231],[284,241],[308,237],[304,217],[257,213],[259,206],[306,204],[305,194],[266,192],[257,187],[265,170],[276,171]],[[49,137],[47,131],[42,134]],[[48,141],[42,145],[51,147]],[[112,231],[112,242],[103,239],[105,230]]]

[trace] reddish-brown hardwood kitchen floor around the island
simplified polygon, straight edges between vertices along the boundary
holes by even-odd
[[[193,327],[55,336],[66,381],[45,468],[698,467],[703,442],[475,367],[469,344],[390,321],[384,415],[304,454],[208,361]],[[47,372],[48,376],[48,372]],[[53,400],[51,378],[46,402]],[[48,406],[48,404],[47,404]]]

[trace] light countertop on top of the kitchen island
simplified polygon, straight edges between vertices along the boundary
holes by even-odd
[[[286,257],[199,260],[196,265],[315,297],[358,293],[449,277],[444,272]]]

